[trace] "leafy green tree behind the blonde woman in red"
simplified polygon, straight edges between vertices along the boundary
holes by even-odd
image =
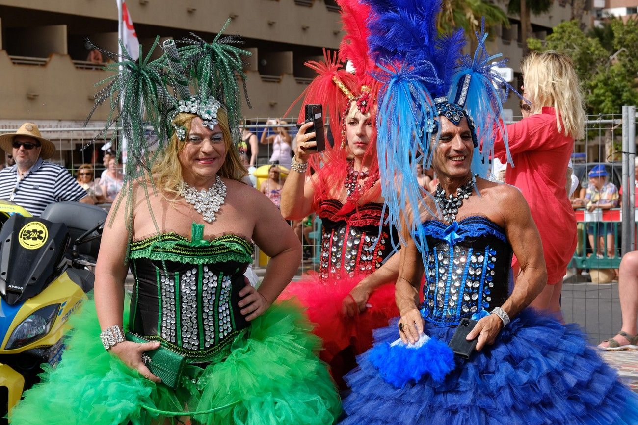
[[[590,113],[618,113],[625,104],[638,104],[638,20],[610,19],[589,34],[576,21],[561,22],[547,40],[528,39],[528,47],[572,58]]]

